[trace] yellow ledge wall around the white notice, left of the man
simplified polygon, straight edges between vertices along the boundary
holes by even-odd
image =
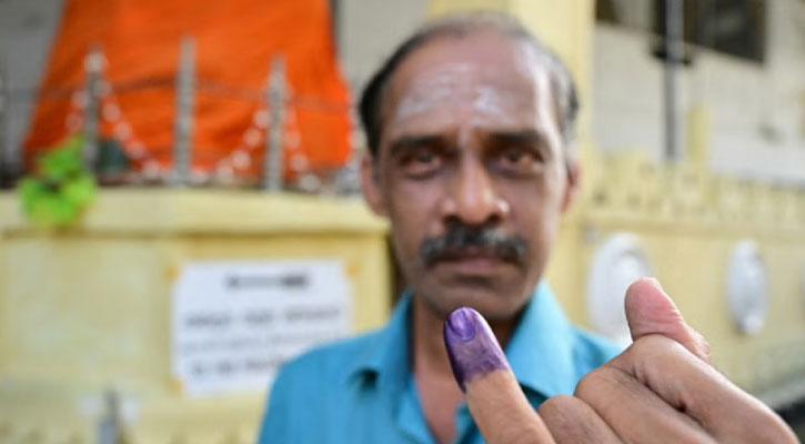
[[[385,231],[355,199],[142,190],[103,191],[79,228],[42,235],[0,195],[0,442],[94,442],[110,387],[138,410],[135,442],[252,442],[264,391],[191,400],[171,375],[182,264],[336,259],[358,332],[390,310]]]

